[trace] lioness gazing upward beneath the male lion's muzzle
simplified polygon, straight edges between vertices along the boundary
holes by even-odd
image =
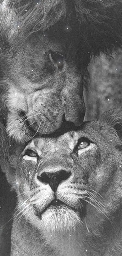
[[[18,195],[11,256],[122,255],[121,126],[122,110],[110,110],[13,146],[8,166],[3,160]]]

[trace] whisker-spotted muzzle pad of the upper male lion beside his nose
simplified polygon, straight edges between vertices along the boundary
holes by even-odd
[[[27,96],[27,105],[28,121],[34,130],[45,134],[51,133],[61,126],[62,101],[56,91],[42,89],[33,92]]]

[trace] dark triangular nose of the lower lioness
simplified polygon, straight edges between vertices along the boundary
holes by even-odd
[[[61,181],[70,177],[71,172],[60,170],[57,172],[43,172],[40,176],[37,176],[38,180],[49,184],[51,189],[55,192]]]

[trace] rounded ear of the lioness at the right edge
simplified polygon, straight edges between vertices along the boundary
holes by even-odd
[[[115,109],[111,108],[104,112],[101,115],[100,120],[112,126],[116,130],[120,139],[122,139],[122,107]]]

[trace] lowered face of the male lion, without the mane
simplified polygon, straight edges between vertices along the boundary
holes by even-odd
[[[83,81],[76,62],[81,56],[77,46],[73,52],[68,49],[68,40],[65,33],[58,38],[45,33],[31,36],[6,65],[1,86],[6,83],[8,93],[2,97],[8,109],[7,131],[16,141],[52,133],[64,120],[82,123]]]

